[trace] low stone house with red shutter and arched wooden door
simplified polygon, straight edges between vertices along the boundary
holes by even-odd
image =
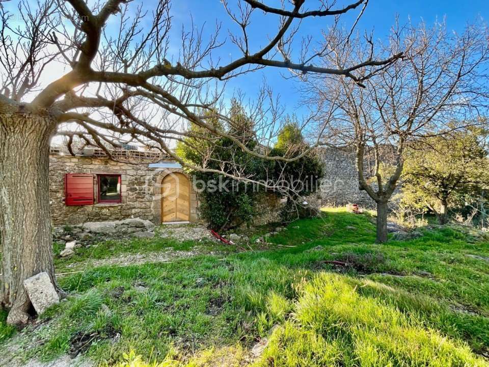
[[[195,222],[198,199],[181,166],[157,152],[121,150],[120,163],[99,149],[49,154],[52,222],[79,224],[141,218],[159,224]],[[151,163],[161,159],[159,163]],[[162,195],[163,194],[163,195]]]

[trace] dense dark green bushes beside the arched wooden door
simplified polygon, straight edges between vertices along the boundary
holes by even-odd
[[[296,124],[287,123],[281,130],[277,144],[272,149],[260,146],[253,131],[253,123],[246,116],[239,104],[234,101],[229,126],[222,126],[217,118],[209,114],[209,123],[216,129],[224,131],[239,139],[249,150],[268,153],[270,156],[293,157],[305,152],[301,130]],[[322,174],[320,160],[314,153],[309,153],[292,162],[266,160],[253,156],[230,138],[213,134],[199,126],[192,125],[193,137],[186,138],[177,146],[177,154],[195,167],[191,172],[199,183],[201,208],[200,212],[210,227],[216,230],[231,229],[241,224],[250,224],[259,214],[256,211],[260,195],[266,191],[278,197],[287,197],[287,204],[282,210],[282,218],[289,220],[295,217],[310,217],[313,212],[303,207],[303,196],[314,192]],[[243,177],[234,179],[215,171]],[[258,185],[248,182],[284,183],[291,190],[275,190],[274,185]],[[202,186],[201,186],[202,185]],[[298,203],[298,205],[297,205]]]

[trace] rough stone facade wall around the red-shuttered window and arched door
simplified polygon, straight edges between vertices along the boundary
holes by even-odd
[[[90,156],[49,155],[49,199],[55,225],[141,218],[161,223],[161,181],[181,169],[148,168],[148,162],[127,164]],[[90,173],[94,177],[94,205],[64,203],[65,173]],[[97,174],[121,175],[121,203],[97,203]],[[191,221],[198,220],[198,200],[191,185]]]

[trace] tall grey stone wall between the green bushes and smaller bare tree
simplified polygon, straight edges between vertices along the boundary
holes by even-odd
[[[374,207],[375,202],[368,194],[358,189],[358,173],[355,163],[355,151],[335,148],[323,148],[319,152],[324,164],[320,188],[311,204],[322,206],[342,206],[356,203],[362,207]],[[368,171],[368,162],[366,163]]]

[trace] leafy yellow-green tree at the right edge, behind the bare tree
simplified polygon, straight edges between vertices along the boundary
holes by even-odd
[[[487,132],[470,128],[426,138],[406,150],[402,204],[430,209],[440,224],[448,221],[450,206],[474,201],[489,185]]]

